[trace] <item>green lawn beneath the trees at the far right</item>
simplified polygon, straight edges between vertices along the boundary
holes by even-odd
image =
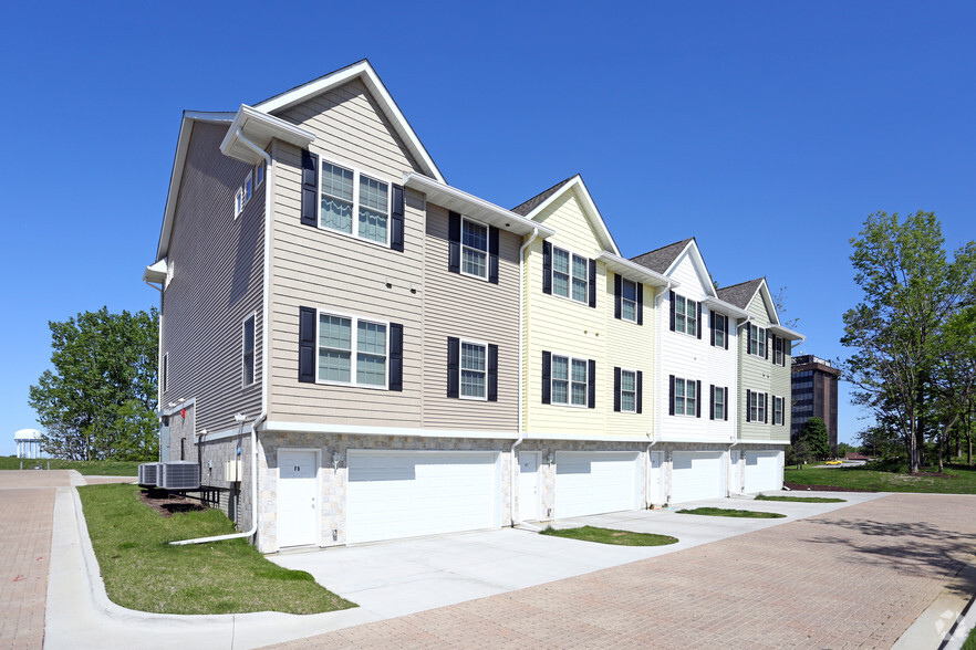
[[[976,494],[976,468],[955,465],[946,468],[941,476],[910,476],[901,471],[874,469],[878,465],[862,468],[787,468],[783,480],[801,485],[835,485],[838,488],[855,488],[878,492],[935,492],[945,494]]]

